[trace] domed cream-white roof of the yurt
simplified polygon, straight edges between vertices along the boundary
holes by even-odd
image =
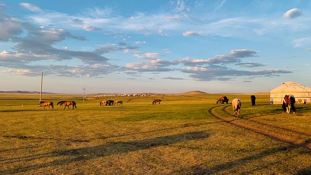
[[[270,91],[270,93],[278,92],[311,92],[311,88],[295,82],[284,82],[281,86],[276,87]]]

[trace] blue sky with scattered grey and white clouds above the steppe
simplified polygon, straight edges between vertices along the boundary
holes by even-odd
[[[311,0],[0,0],[0,90],[311,87]]]

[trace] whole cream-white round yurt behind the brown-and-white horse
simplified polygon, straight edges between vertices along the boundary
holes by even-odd
[[[284,82],[270,91],[270,104],[282,104],[285,95],[294,95],[296,103],[311,103],[311,88],[295,82]]]

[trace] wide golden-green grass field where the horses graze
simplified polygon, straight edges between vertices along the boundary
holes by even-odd
[[[0,174],[311,174],[311,105],[286,114],[269,95],[104,98],[0,94]],[[233,97],[242,100],[233,116]],[[161,105],[152,105],[155,98]],[[77,108],[56,106],[70,100]],[[105,100],[109,100],[106,97]]]

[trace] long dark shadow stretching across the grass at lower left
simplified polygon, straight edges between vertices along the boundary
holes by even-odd
[[[14,173],[25,173],[28,170],[38,170],[49,166],[65,165],[77,161],[86,161],[90,159],[96,159],[99,157],[106,157],[110,155],[128,153],[133,151],[139,151],[149,148],[155,148],[158,146],[167,146],[170,144],[190,141],[190,140],[200,140],[209,137],[206,132],[190,132],[184,134],[176,134],[171,136],[163,136],[152,139],[145,140],[135,140],[128,142],[111,142],[104,145],[83,147],[83,148],[73,148],[68,150],[52,151],[45,154],[37,154],[33,156],[26,157],[15,157],[8,159],[0,159],[1,164],[11,164],[18,162],[25,162],[25,164],[31,164],[31,166],[16,167],[8,170],[0,170],[0,174],[14,174]],[[63,158],[68,157],[68,158]],[[52,158],[51,162],[46,163],[35,163],[41,161],[42,158]]]

